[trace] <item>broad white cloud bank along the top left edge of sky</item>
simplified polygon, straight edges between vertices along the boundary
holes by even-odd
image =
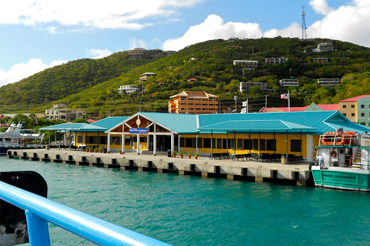
[[[203,0],[1,0],[0,24],[35,26],[59,23],[99,29],[139,30],[148,17],[169,18],[178,8]],[[145,7],[143,7],[145,6]],[[51,29],[50,31],[55,31]]]

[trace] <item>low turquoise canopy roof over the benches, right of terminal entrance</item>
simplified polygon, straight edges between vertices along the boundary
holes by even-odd
[[[222,130],[222,131],[314,131],[316,128],[308,127],[301,124],[286,122],[282,120],[272,121],[227,121],[207,125],[199,130]]]

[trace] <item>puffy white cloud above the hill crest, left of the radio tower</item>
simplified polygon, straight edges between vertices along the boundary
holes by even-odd
[[[180,50],[187,45],[203,42],[211,39],[229,37],[261,37],[262,31],[257,23],[226,22],[218,15],[209,15],[199,25],[192,26],[184,36],[167,39],[163,44],[164,50]]]

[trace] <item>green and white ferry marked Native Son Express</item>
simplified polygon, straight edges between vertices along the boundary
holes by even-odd
[[[327,132],[315,150],[310,170],[316,186],[370,191],[370,134]]]

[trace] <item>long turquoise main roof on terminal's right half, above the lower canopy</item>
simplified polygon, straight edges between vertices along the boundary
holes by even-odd
[[[243,121],[260,121],[263,124],[263,131],[271,132],[275,130],[273,124],[277,120],[287,123],[288,126],[292,127],[288,131],[302,130],[302,132],[310,132],[310,134],[323,134],[325,132],[334,131],[337,128],[343,126],[345,131],[357,131],[357,132],[370,132],[370,127],[359,125],[357,123],[351,123],[338,111],[303,111],[303,112],[274,112],[274,113],[251,113],[251,114],[214,114],[214,115],[198,115],[198,130],[200,133],[209,133],[211,125],[219,124],[218,130],[226,131],[231,128],[237,128],[238,122]],[[233,122],[227,123],[227,122]],[[265,123],[263,123],[265,122]],[[270,122],[270,123],[268,123]],[[222,125],[222,123],[225,123]],[[296,126],[293,124],[297,124]],[[300,126],[299,126],[300,125]],[[223,126],[225,126],[223,128]],[[252,124],[251,127],[247,124],[244,125],[245,131],[257,130],[256,123]],[[299,127],[302,127],[299,129]],[[252,129],[249,129],[252,128]],[[305,129],[304,129],[305,128]],[[313,130],[313,129],[314,130]],[[215,128],[213,128],[215,129]]]

